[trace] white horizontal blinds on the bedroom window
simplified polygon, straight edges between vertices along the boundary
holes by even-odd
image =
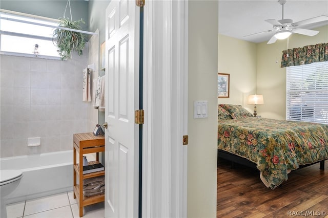
[[[328,62],[286,68],[286,120],[328,123]]]

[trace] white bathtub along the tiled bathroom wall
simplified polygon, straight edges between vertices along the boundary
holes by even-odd
[[[1,169],[20,169],[23,178],[8,203],[73,190],[73,151],[0,158]]]

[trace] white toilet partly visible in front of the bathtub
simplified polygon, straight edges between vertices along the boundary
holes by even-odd
[[[18,186],[20,179],[23,177],[23,172],[16,169],[0,170],[0,204],[1,204],[1,218],[7,218],[7,197]]]

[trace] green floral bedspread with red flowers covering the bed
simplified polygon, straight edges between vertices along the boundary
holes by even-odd
[[[256,163],[272,189],[300,165],[328,159],[328,125],[256,117],[218,121],[218,149]]]

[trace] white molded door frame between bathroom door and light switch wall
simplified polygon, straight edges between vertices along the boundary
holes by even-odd
[[[142,217],[187,217],[188,1],[144,7]]]

